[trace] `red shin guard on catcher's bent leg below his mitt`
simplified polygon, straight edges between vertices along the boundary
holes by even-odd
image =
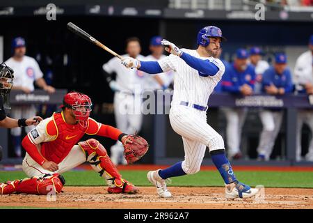
[[[91,164],[91,167],[106,179],[106,183],[110,187],[123,187],[124,180],[122,180],[122,176],[99,141],[88,139],[79,142],[79,146],[85,151],[86,160]]]

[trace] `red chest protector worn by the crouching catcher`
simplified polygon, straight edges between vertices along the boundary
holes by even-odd
[[[53,119],[57,132],[56,139],[42,143],[41,153],[47,160],[58,164],[70,153],[73,146],[77,144],[81,137],[83,137],[88,127],[83,128],[79,124],[67,124],[61,113],[54,113]]]

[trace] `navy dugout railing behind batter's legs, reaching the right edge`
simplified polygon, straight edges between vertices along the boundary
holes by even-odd
[[[157,97],[157,103],[163,104],[165,110],[170,109],[169,102],[166,103],[163,98]],[[281,108],[285,110],[284,118],[284,157],[281,160],[270,160],[267,162],[259,162],[257,160],[234,160],[233,163],[236,165],[275,165],[275,166],[290,166],[290,165],[301,165],[311,166],[313,162],[296,161],[296,117],[297,109],[313,109],[313,95],[251,95],[243,97],[240,95],[230,95],[227,93],[214,93],[209,99],[209,109],[207,111],[210,114],[210,108],[221,108],[221,107],[248,107],[250,109],[256,108]],[[220,112],[220,109],[218,110]],[[312,110],[313,112],[313,110]],[[184,150],[184,148],[167,148],[168,139],[170,135],[168,121],[168,115],[157,114],[154,116],[154,164],[169,164],[179,162],[184,157],[173,157],[168,155],[168,150]],[[261,132],[259,132],[261,133]],[[243,136],[246,137],[246,136]],[[226,142],[225,142],[226,144]],[[204,165],[211,165],[211,159],[204,157],[202,162]]]

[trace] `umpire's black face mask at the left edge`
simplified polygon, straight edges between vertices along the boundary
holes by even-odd
[[[5,98],[10,93],[13,86],[13,69],[6,66],[6,63],[0,64],[0,95]]]

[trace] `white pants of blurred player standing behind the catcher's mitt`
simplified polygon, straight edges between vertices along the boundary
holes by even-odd
[[[116,127],[126,134],[134,134],[141,130],[141,95],[131,95],[123,92],[115,92],[114,115]],[[122,162],[127,164],[123,155],[124,147],[120,141],[111,146],[111,160],[114,164]]]

